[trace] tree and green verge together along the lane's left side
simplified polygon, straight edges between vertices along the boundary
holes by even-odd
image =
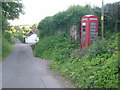
[[[11,26],[8,23],[8,20],[14,20],[19,17],[20,13],[23,13],[23,5],[18,1],[15,2],[0,2],[0,19],[2,24],[0,23],[0,44],[2,46],[2,58],[7,56],[14,44],[14,38],[9,31],[11,30]]]

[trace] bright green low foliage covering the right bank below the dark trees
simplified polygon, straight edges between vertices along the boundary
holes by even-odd
[[[120,35],[120,34],[119,34]],[[51,59],[51,68],[79,88],[118,88],[118,40],[96,41],[83,57],[71,56],[77,44],[61,35],[46,37],[37,44],[34,54]],[[106,44],[107,43],[107,44]]]

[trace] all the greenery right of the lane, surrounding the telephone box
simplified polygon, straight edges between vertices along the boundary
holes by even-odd
[[[38,25],[40,42],[34,49],[35,56],[52,60],[51,69],[68,78],[76,87],[118,88],[118,5],[118,2],[105,5],[105,38],[101,39],[99,23],[98,40],[85,50],[80,48],[78,41],[69,39],[69,30],[76,25],[79,32],[80,18],[86,14],[100,17],[101,8],[74,5],[46,17]]]

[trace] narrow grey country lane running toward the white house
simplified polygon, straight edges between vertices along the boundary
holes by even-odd
[[[66,81],[50,71],[50,61],[36,58],[30,45],[15,39],[12,53],[2,62],[2,88],[65,88]]]

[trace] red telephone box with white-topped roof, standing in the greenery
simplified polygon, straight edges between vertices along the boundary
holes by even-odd
[[[98,34],[98,17],[94,15],[86,15],[81,20],[81,36],[80,44],[82,48],[86,48],[96,40]]]

